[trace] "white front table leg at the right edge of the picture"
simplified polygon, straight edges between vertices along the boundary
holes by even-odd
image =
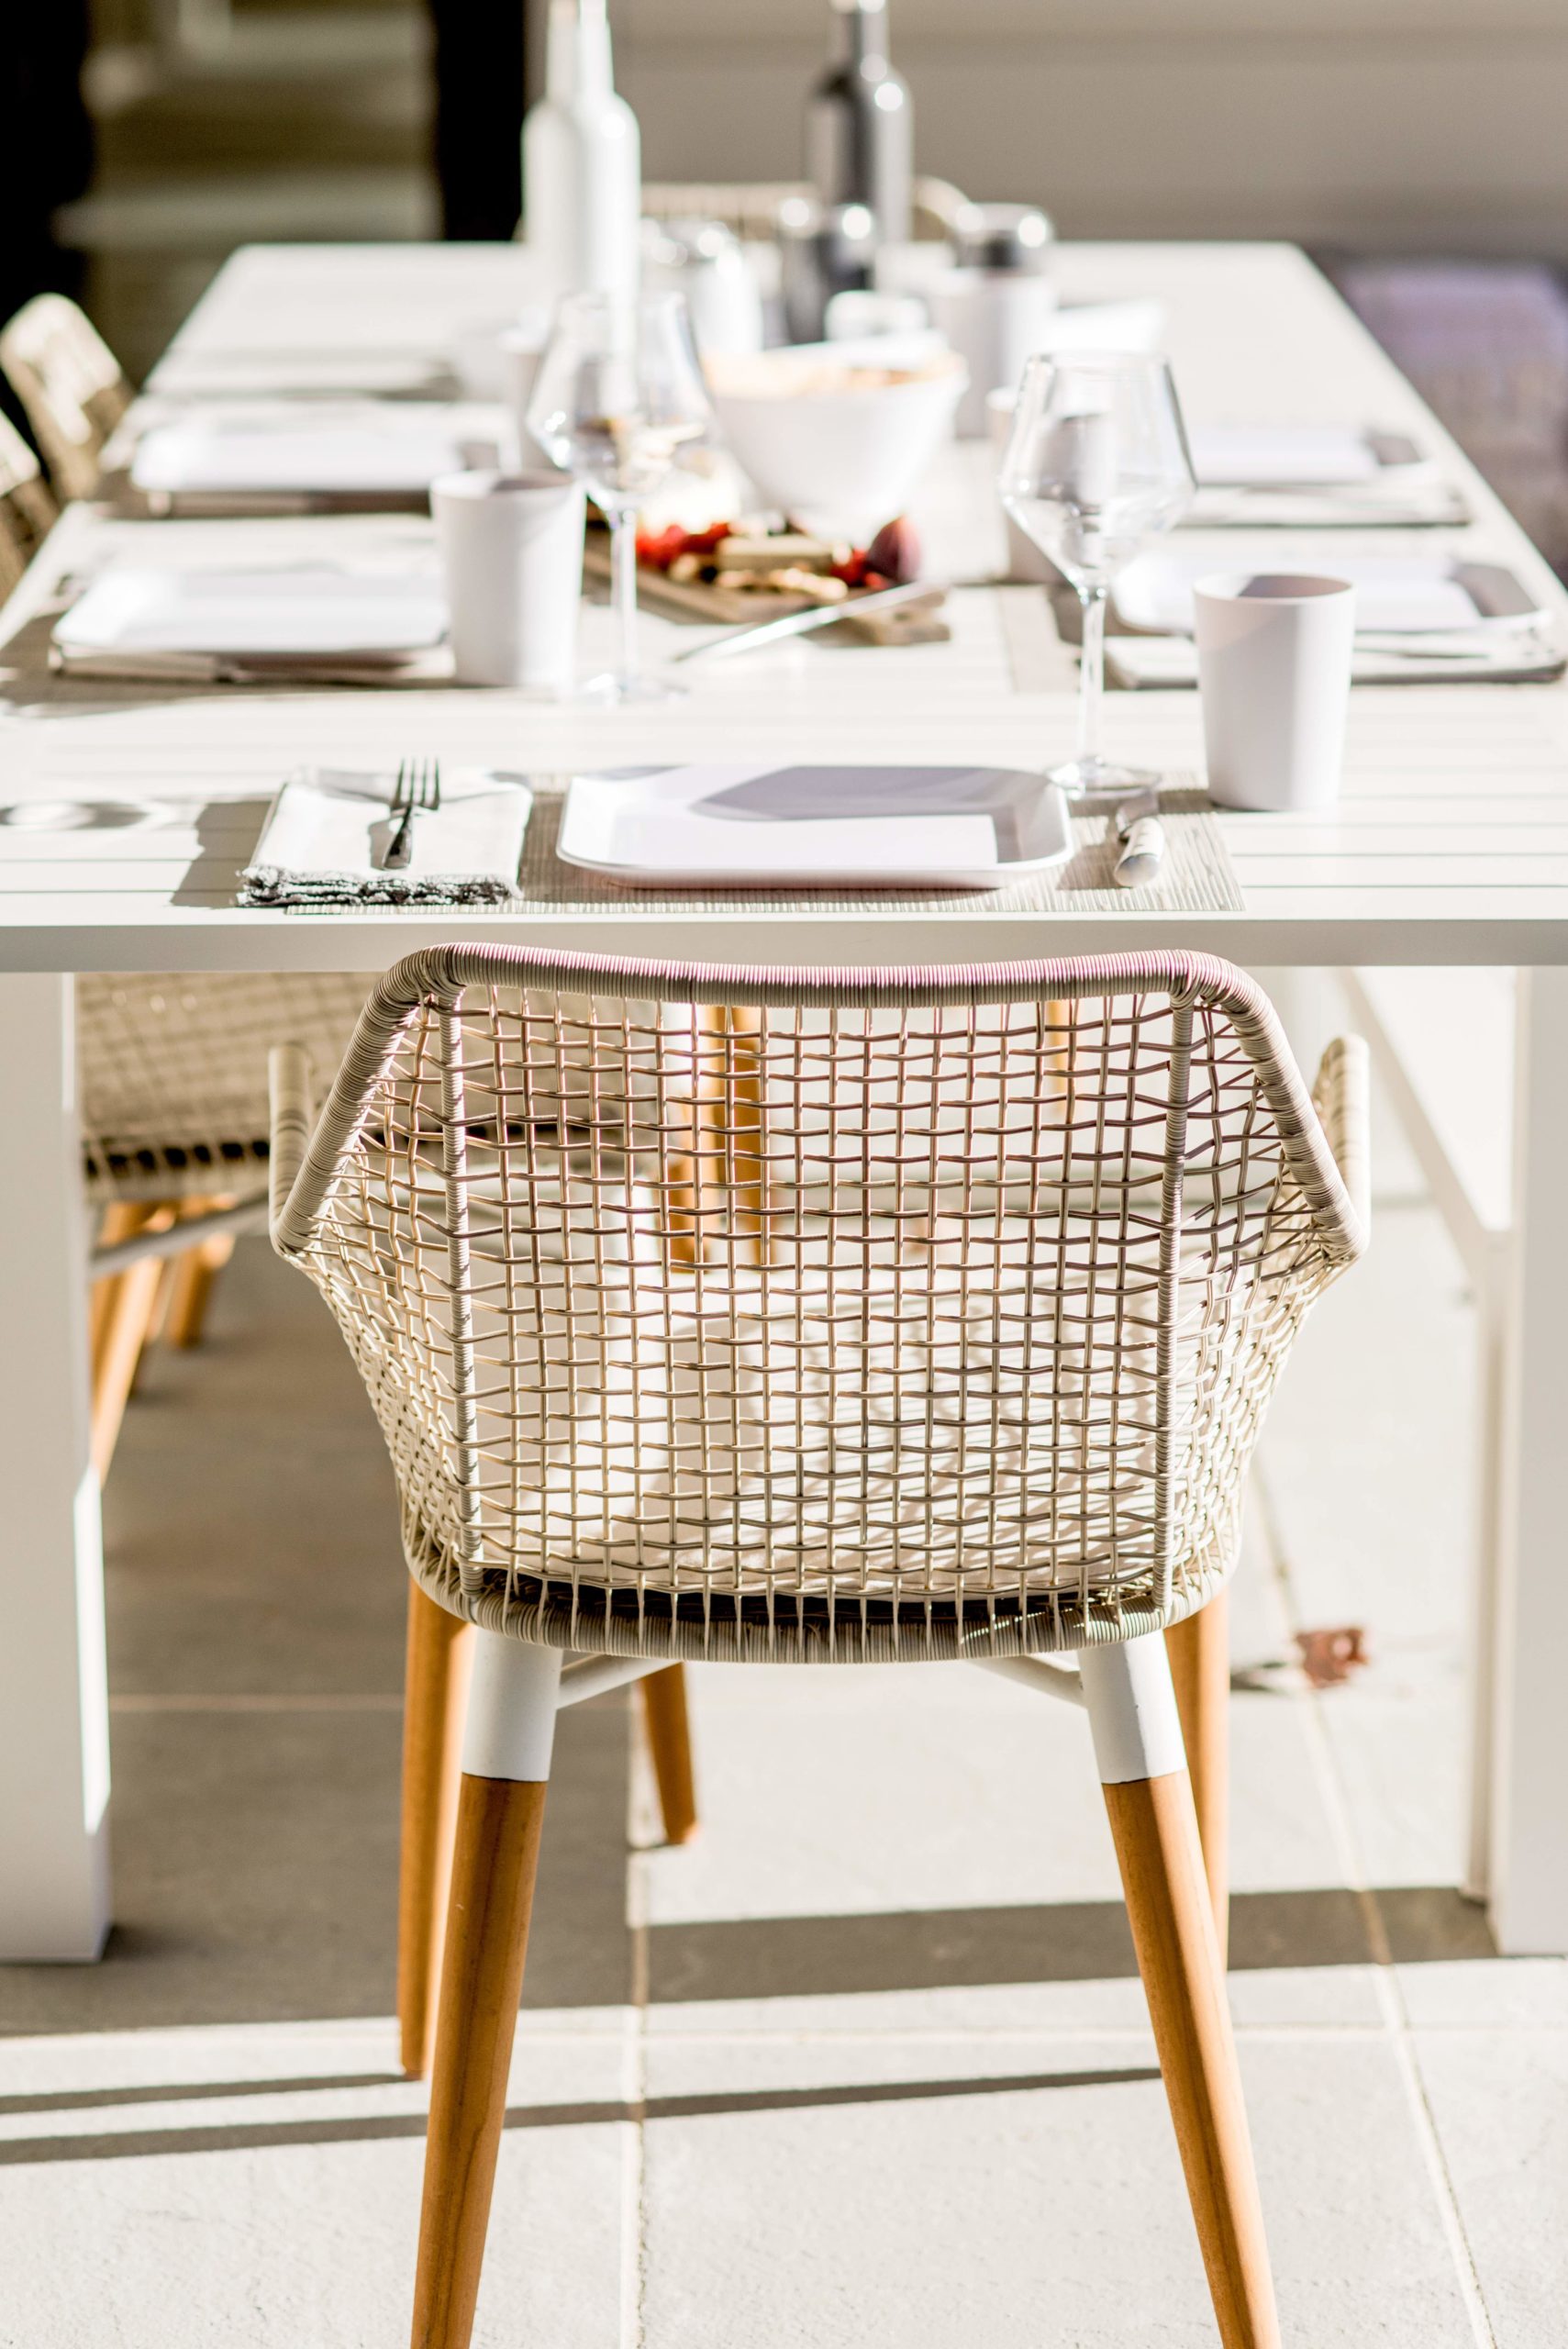
[[[1519,977],[1505,1308],[1491,1917],[1568,1952],[1568,970]]]

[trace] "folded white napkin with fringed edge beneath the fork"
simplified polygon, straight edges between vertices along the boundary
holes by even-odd
[[[413,817],[408,862],[385,871],[401,820],[394,782],[345,768],[291,775],[239,874],[239,904],[514,904],[533,808],[523,778],[446,770],[441,806]]]

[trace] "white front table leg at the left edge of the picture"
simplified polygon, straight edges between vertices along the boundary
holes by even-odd
[[[73,1029],[70,980],[0,977],[0,1959],[89,1959],[108,1933]]]

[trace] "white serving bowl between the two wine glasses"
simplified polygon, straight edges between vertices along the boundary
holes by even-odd
[[[967,376],[939,348],[894,383],[845,383],[850,369],[901,366],[890,343],[812,343],[711,362],[721,432],[765,505],[829,536],[876,531],[906,510],[953,430]]]

